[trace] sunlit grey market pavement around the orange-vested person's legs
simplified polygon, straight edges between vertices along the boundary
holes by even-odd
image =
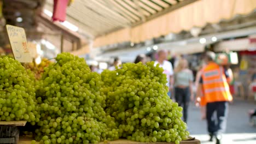
[[[246,101],[234,101],[230,105],[227,129],[222,143],[256,143],[256,127],[249,125],[249,109],[256,109],[256,105]],[[188,127],[190,135],[199,139],[202,144],[215,143],[208,142],[209,136],[207,134],[206,121],[201,120],[199,107],[195,107],[192,104],[189,107]]]

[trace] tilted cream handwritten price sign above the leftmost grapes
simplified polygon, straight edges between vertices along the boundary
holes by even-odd
[[[24,28],[6,25],[6,29],[15,59],[21,63],[31,63],[32,58],[27,46]]]

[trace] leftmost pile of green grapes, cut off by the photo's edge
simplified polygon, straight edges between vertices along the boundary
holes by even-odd
[[[0,57],[0,121],[39,122],[34,80],[20,62]]]

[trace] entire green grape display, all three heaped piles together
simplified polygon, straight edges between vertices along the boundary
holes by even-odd
[[[46,144],[188,139],[182,107],[168,97],[166,75],[154,62],[97,74],[70,53],[55,60],[36,80],[18,61],[0,58],[1,121],[27,120]]]

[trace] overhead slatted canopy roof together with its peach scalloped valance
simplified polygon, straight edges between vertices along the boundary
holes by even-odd
[[[75,0],[67,8],[67,21],[100,47],[189,31],[255,8],[255,0]],[[52,11],[53,0],[46,1],[45,9]]]

